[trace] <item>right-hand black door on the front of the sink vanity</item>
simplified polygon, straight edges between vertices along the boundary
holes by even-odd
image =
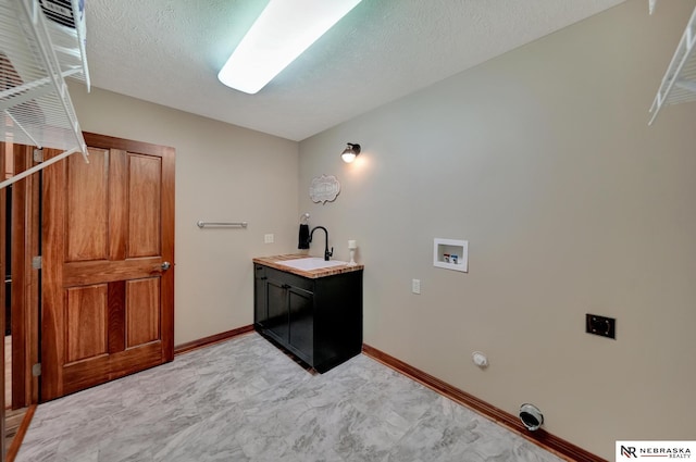
[[[309,364],[314,358],[314,294],[299,287],[287,289],[290,314],[289,345]]]

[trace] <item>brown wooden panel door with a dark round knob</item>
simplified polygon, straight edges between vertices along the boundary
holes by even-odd
[[[41,400],[174,358],[174,149],[85,140],[44,173]]]

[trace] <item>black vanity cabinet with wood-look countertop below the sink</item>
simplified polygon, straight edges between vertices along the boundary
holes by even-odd
[[[363,266],[302,271],[288,257],[253,259],[253,326],[323,373],[362,349]]]

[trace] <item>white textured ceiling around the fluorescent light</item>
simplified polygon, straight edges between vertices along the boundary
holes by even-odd
[[[246,95],[216,75],[268,1],[89,0],[87,58],[96,87],[302,140],[622,1],[363,0]]]

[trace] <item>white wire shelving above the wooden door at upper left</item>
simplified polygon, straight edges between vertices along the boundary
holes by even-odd
[[[60,159],[82,152],[87,161],[65,85],[65,77],[73,77],[89,88],[85,12],[78,0],[72,0],[72,11],[50,0],[44,8],[52,20],[38,0],[0,0],[0,141],[60,149],[65,151]],[[13,176],[0,188],[48,164]]]

